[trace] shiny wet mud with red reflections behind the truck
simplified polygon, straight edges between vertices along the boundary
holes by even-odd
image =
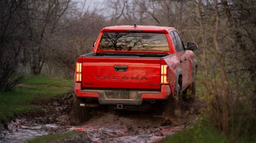
[[[154,142],[181,130],[182,126],[159,126],[157,128],[138,128],[136,134],[127,132],[127,128],[100,127],[88,124],[79,127],[72,127],[70,130],[78,130],[86,133],[92,142]],[[79,135],[75,135],[78,136]],[[70,141],[70,139],[66,139]]]

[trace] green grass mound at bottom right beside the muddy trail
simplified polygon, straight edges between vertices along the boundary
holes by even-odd
[[[225,136],[218,132],[211,123],[197,123],[193,127],[174,133],[159,142],[222,143],[227,141]]]

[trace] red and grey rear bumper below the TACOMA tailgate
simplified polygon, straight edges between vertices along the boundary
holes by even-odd
[[[81,83],[75,83],[77,97],[98,98],[100,104],[140,105],[143,99],[166,99],[171,94],[169,85],[161,85],[161,91],[137,91],[134,99],[106,98],[104,90],[81,90]]]

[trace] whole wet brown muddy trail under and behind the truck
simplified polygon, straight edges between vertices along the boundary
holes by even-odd
[[[38,98],[33,104],[43,106],[43,110],[0,126],[0,141],[25,142],[46,134],[75,130],[80,133],[53,142],[153,142],[190,126],[203,106],[196,99],[186,110],[177,110],[174,117],[150,111],[95,110],[89,120],[79,121],[73,116],[72,91],[51,99]]]

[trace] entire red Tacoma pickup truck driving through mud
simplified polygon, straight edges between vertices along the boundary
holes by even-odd
[[[75,101],[80,107],[140,109],[144,103],[195,94],[193,50],[198,46],[188,42],[185,47],[173,27],[105,27],[93,47],[76,63]]]

